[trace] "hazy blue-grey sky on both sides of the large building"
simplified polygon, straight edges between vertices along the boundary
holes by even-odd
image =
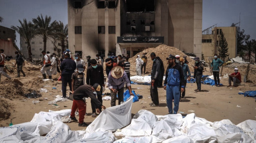
[[[214,24],[218,27],[230,26],[239,22],[250,39],[256,39],[256,0],[203,0],[202,30]],[[67,0],[0,0],[0,25],[10,27],[20,25],[18,20],[32,20],[38,15],[48,15],[52,20],[68,24]],[[16,34],[17,46],[20,36]]]

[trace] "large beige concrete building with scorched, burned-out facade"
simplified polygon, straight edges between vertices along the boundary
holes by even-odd
[[[147,47],[202,54],[202,0],[68,0],[68,46],[130,57]]]

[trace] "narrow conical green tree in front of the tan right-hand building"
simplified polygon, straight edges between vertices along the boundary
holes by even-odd
[[[219,55],[222,61],[224,61],[225,58],[229,56],[229,53],[228,53],[228,43],[226,41],[226,38],[224,37],[223,32],[220,32],[219,42],[220,42],[220,46],[218,47]]]

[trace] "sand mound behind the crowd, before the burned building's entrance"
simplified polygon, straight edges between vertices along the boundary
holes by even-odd
[[[147,48],[147,49],[145,49],[142,52],[137,54],[137,55],[140,55],[140,58],[141,58],[142,57],[142,53],[147,53],[146,54],[146,57],[148,57],[148,63],[146,65],[146,73],[147,74],[150,74],[151,69],[152,69],[153,61],[150,59],[150,54],[152,52],[156,53],[156,56],[158,56],[158,57],[160,57],[160,59],[162,59],[162,61],[164,63],[165,71],[166,71],[166,68],[168,67],[166,57],[168,57],[170,54],[172,54],[172,55],[180,55],[182,57],[186,55],[185,53],[183,53],[179,49],[177,49],[175,47],[170,47],[170,46],[167,46],[167,45],[159,45],[158,47],[155,47],[155,48]],[[135,68],[136,68],[136,64],[135,64],[136,57],[137,56],[134,56],[134,57],[129,59],[129,62],[131,63],[130,70],[134,71],[134,72],[135,72]],[[192,67],[192,65],[194,65],[194,60],[191,59],[188,56],[187,56],[187,60],[189,62],[188,66],[189,66],[190,72],[193,72],[194,68]]]

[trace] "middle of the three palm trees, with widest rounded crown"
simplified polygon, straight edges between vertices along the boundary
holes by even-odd
[[[57,22],[54,20],[51,23],[51,16],[45,16],[43,18],[42,14],[41,16],[37,16],[37,18],[33,18],[32,22],[35,24],[36,27],[36,34],[40,35],[44,41],[44,51],[46,51],[46,42],[49,37],[54,37],[56,30]]]

